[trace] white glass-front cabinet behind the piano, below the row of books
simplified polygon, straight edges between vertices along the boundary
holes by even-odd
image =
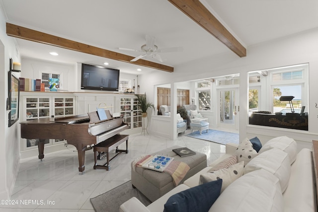
[[[23,95],[23,94],[30,94]],[[36,96],[38,95],[38,96]],[[60,95],[60,94],[56,94]],[[21,121],[43,118],[61,118],[76,115],[74,96],[55,96],[48,93],[22,92]],[[21,151],[37,148],[38,139],[22,139]],[[45,146],[63,143],[65,140],[46,139]]]

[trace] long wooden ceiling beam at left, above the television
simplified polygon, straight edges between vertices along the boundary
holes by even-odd
[[[22,26],[14,25],[11,23],[6,23],[6,34],[8,36],[21,38],[29,41],[35,41],[38,43],[48,44],[52,46],[61,47],[64,49],[74,50],[90,55],[100,56],[104,58],[109,58],[117,61],[122,61],[126,63],[131,63],[135,65],[140,65],[148,68],[158,69],[161,71],[173,72],[173,67],[165,66],[162,64],[154,63],[146,60],[138,60],[136,62],[130,62],[134,57],[120,54],[117,52],[112,52],[106,49],[101,49],[98,47],[90,46],[87,44],[79,43],[69,39],[61,38],[58,36],[46,34]]]

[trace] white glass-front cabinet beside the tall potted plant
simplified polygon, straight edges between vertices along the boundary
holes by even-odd
[[[123,122],[131,129],[142,127],[141,110],[138,109],[137,98],[120,98],[120,114],[123,116]]]

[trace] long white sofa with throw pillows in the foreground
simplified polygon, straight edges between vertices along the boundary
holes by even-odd
[[[246,145],[246,148],[243,145]],[[258,153],[250,150],[249,146],[248,140],[241,142],[239,146],[227,144],[226,154],[148,207],[145,207],[137,198],[131,198],[121,205],[120,211],[166,212],[168,211],[168,203],[172,198],[175,201],[176,196],[180,197],[180,194],[183,195],[186,191],[203,188],[202,185],[208,184],[199,185],[200,183],[209,179],[209,177],[213,179],[217,173],[220,174],[222,171],[229,170],[232,174],[230,172],[225,173],[222,178],[222,189],[219,191],[221,194],[212,203],[213,205],[209,207],[209,212],[317,211],[316,175],[311,149],[304,148],[297,152],[296,142],[288,137],[277,137],[266,142]],[[250,155],[244,155],[241,150],[249,151]],[[229,162],[231,157],[234,158],[233,155],[237,155],[236,164],[228,168],[221,168],[219,172],[217,170],[211,173],[211,170],[216,169],[217,166],[223,166],[225,161]],[[243,163],[245,166],[242,165]],[[233,173],[238,176],[233,177]],[[194,205],[206,204],[200,203],[200,197],[204,199],[203,196],[205,194],[197,193],[192,195],[192,197],[199,197]],[[191,202],[186,195],[182,196],[182,198],[184,202]],[[174,204],[188,204],[184,202],[174,202]],[[167,205],[166,209],[164,209],[165,204]],[[191,207],[192,204],[190,203],[186,207]]]

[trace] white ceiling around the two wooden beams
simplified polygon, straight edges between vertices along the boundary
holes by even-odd
[[[318,27],[317,0],[201,0],[248,47]],[[156,36],[159,48],[183,47],[162,53],[162,64],[176,67],[214,55],[232,53],[167,0],[0,0],[7,22],[95,47],[137,57],[145,36]],[[21,58],[59,63],[90,63],[142,74],[158,71],[32,41],[16,39]],[[49,52],[58,52],[51,56]],[[147,58],[156,63],[158,61]],[[23,64],[22,64],[23,67]],[[136,71],[141,68],[142,71]]]

